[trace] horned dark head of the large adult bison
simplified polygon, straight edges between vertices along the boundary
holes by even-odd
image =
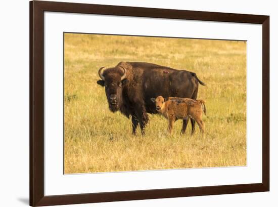
[[[99,69],[99,76],[101,80],[98,80],[97,84],[105,87],[109,109],[112,112],[119,110],[122,104],[123,87],[127,82],[126,69],[122,66],[108,68],[106,70],[105,67],[101,67]]]

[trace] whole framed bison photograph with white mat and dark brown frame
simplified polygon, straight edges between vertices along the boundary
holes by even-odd
[[[269,191],[269,16],[30,2],[30,205]]]

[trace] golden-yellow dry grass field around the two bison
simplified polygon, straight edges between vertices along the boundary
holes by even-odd
[[[196,72],[207,84],[206,138],[167,135],[167,120],[150,115],[146,135],[131,135],[131,120],[112,113],[98,69],[120,61],[151,62]],[[70,173],[246,165],[246,42],[65,34],[64,169]],[[138,130],[138,129],[137,129]]]

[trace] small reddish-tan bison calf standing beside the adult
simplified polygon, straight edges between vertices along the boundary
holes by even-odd
[[[191,117],[198,123],[202,136],[204,137],[205,123],[202,120],[202,114],[203,111],[206,114],[206,106],[203,100],[176,97],[164,99],[162,96],[159,96],[156,99],[151,98],[151,100],[155,103],[158,113],[168,119],[168,132],[170,134],[172,133],[173,124],[176,120],[186,120]]]

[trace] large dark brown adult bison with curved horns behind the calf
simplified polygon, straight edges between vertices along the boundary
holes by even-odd
[[[157,113],[151,98],[181,97],[197,98],[199,83],[196,73],[145,62],[120,62],[112,68],[99,69],[101,80],[97,83],[105,87],[105,93],[112,112],[120,110],[126,117],[131,116],[132,134],[138,124],[141,132],[149,121],[147,113]],[[183,120],[182,130],[186,131],[188,119]],[[192,134],[195,121],[191,119]]]

